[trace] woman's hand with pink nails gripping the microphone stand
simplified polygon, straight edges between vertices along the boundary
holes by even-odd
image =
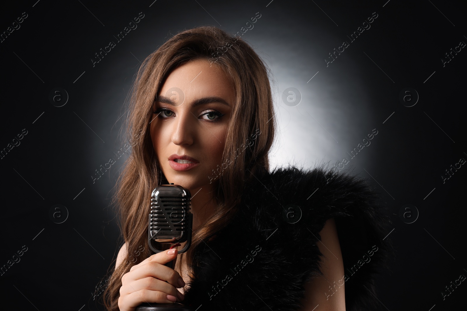
[[[164,266],[177,257],[177,249],[154,254],[131,267],[121,278],[120,311],[134,311],[142,303],[170,304],[184,299],[177,288],[184,287],[180,274]],[[167,282],[165,282],[167,281]]]

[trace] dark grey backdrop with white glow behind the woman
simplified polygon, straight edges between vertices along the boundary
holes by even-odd
[[[344,169],[381,193],[396,260],[377,279],[379,310],[465,305],[465,282],[444,299],[442,292],[467,276],[467,168],[453,169],[444,182],[442,176],[467,159],[467,52],[459,47],[450,61],[446,56],[467,42],[466,12],[461,1],[386,1],[9,3],[0,31],[20,28],[0,42],[0,148],[20,144],[0,159],[3,303],[19,310],[102,309],[94,300],[105,286],[99,282],[123,242],[109,202],[127,155],[98,180],[92,176],[125,143],[119,135],[125,100],[140,62],[180,30],[213,25],[234,34],[259,12],[242,38],[271,70],[280,124],[272,166],[311,168],[346,158]],[[23,12],[27,17],[13,24]],[[140,12],[137,28],[117,41]],[[371,27],[350,40],[374,12]],[[93,66],[109,41],[115,47]],[[333,60],[329,53],[343,41],[349,46]],[[290,87],[301,96],[297,105],[282,99]],[[49,100],[54,88],[69,96],[62,107]],[[401,102],[405,88],[412,90]],[[59,95],[55,105],[64,103]],[[27,134],[13,140],[23,129]],[[371,144],[352,159],[347,152],[373,129]],[[405,204],[418,216],[412,207],[400,217]],[[23,246],[27,251],[14,257]],[[13,259],[20,261],[9,266]]]

